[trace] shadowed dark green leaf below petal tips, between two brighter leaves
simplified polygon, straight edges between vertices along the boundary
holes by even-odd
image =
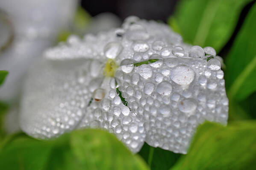
[[[151,170],[169,170],[181,155],[161,148],[150,147],[147,143],[143,145],[138,154],[147,161]]]

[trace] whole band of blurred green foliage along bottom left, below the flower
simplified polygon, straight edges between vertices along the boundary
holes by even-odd
[[[13,135],[0,145],[4,170],[148,170],[113,134],[83,129],[55,140]]]

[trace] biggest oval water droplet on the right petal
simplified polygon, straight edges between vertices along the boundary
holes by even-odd
[[[177,65],[171,70],[171,79],[179,85],[189,85],[194,80],[194,70],[187,65]]]

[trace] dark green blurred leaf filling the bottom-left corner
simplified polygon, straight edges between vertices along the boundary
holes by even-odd
[[[49,144],[28,138],[17,138],[6,144],[0,152],[3,170],[43,170],[51,147]]]

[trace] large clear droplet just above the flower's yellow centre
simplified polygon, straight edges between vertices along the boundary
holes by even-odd
[[[104,47],[105,56],[109,59],[115,59],[123,50],[123,46],[118,42],[110,42]]]

